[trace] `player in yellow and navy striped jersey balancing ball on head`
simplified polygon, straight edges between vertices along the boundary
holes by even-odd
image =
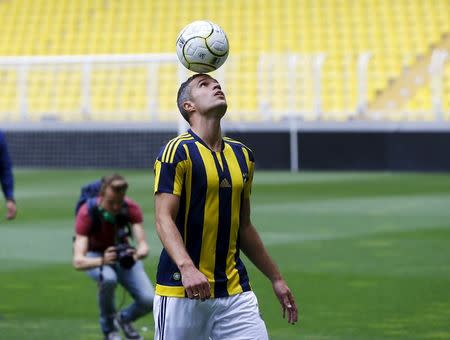
[[[289,323],[297,321],[297,306],[250,219],[253,153],[222,137],[227,101],[209,75],[187,79],[177,104],[191,129],[155,162],[156,229],[164,247],[155,339],[267,339],[240,251],[272,282]]]

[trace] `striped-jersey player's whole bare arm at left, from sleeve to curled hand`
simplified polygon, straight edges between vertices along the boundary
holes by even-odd
[[[209,299],[211,292],[208,279],[195,267],[175,224],[179,206],[180,197],[177,195],[155,195],[156,231],[164,248],[180,270],[188,297]]]

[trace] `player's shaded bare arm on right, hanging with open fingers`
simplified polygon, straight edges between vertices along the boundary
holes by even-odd
[[[250,219],[250,199],[244,198],[241,205],[241,223],[239,236],[241,249],[253,262],[253,264],[272,282],[272,287],[280,301],[283,318],[288,313],[288,322],[295,323],[298,320],[298,311],[294,296],[281,276],[277,265],[270,257],[264,244]]]

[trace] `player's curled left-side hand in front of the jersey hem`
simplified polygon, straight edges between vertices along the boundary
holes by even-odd
[[[181,282],[189,299],[205,301],[211,297],[211,287],[207,277],[193,264],[181,270]]]

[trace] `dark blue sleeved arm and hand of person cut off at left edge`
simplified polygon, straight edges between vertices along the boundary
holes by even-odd
[[[17,208],[14,200],[14,175],[12,172],[11,158],[9,157],[8,144],[3,132],[0,131],[0,181],[2,183],[3,196],[6,200],[6,218],[12,220],[16,217]]]

